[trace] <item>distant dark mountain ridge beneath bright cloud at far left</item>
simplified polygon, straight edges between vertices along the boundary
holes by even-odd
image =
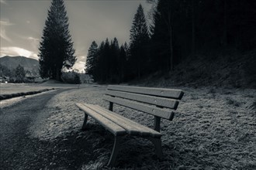
[[[6,66],[9,70],[15,70],[17,66],[23,66],[24,70],[39,75],[39,61],[25,56],[3,56],[0,58],[0,64]]]

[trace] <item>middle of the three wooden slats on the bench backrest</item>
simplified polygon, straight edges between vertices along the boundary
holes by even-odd
[[[178,100],[173,100],[163,97],[153,97],[138,93],[126,93],[121,91],[106,90],[106,94],[109,96],[122,97],[129,100],[136,100],[147,104],[154,104],[160,107],[168,107],[171,109],[177,109]]]

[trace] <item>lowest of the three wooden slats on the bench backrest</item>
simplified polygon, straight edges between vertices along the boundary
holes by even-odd
[[[131,100],[125,100],[117,97],[104,96],[103,100],[110,101],[121,106],[130,107],[135,110],[140,110],[146,112],[147,114],[152,114],[157,117],[163,117],[165,119],[171,120],[173,117],[173,112],[171,110],[164,110],[157,107],[148,106],[147,104],[140,104]]]

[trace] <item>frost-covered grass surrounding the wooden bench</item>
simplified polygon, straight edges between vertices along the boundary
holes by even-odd
[[[124,137],[117,159],[118,169],[255,169],[256,90],[175,87],[185,91],[173,121],[161,121],[164,159],[154,155],[154,146],[143,138]],[[94,120],[81,131],[84,113],[76,102],[99,104],[106,86],[68,90],[49,101],[45,121],[31,128],[33,138],[68,146],[66,155],[81,160],[80,168],[106,168],[113,136]],[[154,117],[119,107],[114,110],[152,127]],[[43,113],[42,113],[43,115]],[[43,119],[42,119],[43,120]]]

